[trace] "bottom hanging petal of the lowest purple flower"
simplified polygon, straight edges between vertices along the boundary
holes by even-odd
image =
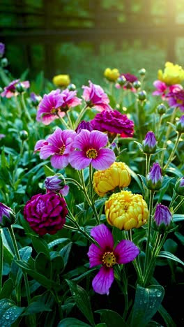
[[[114,281],[114,271],[113,268],[107,268],[102,266],[100,271],[93,279],[92,286],[93,290],[99,294],[109,295],[109,288],[112,286]]]

